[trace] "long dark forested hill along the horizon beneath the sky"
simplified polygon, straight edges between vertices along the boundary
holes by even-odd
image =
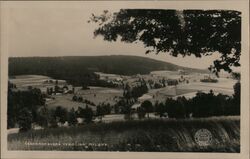
[[[205,70],[180,67],[171,63],[139,56],[65,56],[14,57],[9,59],[9,75],[40,74],[47,76],[104,72],[120,75],[148,74],[155,70]],[[80,73],[81,74],[81,73]]]

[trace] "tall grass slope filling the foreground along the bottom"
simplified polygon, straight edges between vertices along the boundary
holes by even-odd
[[[212,134],[209,146],[194,139]],[[240,152],[239,117],[98,123],[8,135],[9,150]]]

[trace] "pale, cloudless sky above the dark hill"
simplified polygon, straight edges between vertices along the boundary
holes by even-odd
[[[107,42],[94,38],[98,24],[88,23],[91,14],[103,10],[116,12],[124,8],[164,8],[161,3],[127,2],[10,2],[6,10],[8,54],[23,56],[98,56],[135,55],[171,62],[191,68],[208,68],[215,56],[172,57],[168,53],[145,54],[143,44]]]

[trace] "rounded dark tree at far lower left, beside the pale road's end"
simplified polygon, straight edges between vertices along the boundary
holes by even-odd
[[[20,132],[25,132],[31,129],[32,124],[32,113],[27,109],[23,108],[19,112],[18,116],[18,124],[20,128]]]

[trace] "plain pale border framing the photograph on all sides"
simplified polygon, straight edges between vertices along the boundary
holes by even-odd
[[[31,3],[43,2],[0,2],[0,55],[1,55],[1,158],[228,158],[228,159],[248,159],[249,158],[249,3],[246,0],[228,0],[228,1],[92,1],[97,5],[116,5],[122,3],[127,8],[163,8],[165,9],[232,9],[242,12],[242,56],[241,56],[241,152],[240,153],[156,153],[156,152],[72,152],[72,151],[8,151],[7,150],[7,80],[8,80],[8,24],[6,19],[8,14],[4,14],[4,10],[12,3],[19,3],[20,7],[29,7]],[[69,2],[57,1],[46,3],[85,3],[85,2]],[[108,4],[107,4],[108,3]],[[58,5],[58,7],[62,7]],[[126,8],[125,7],[125,8]]]

